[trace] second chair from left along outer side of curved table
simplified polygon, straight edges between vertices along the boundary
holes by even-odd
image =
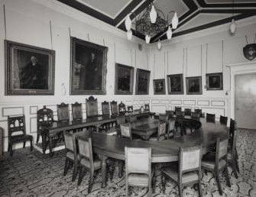
[[[93,157],[92,152],[92,139],[89,137],[88,139],[83,139],[82,135],[79,134],[78,139],[78,150],[79,150],[79,177],[77,185],[80,186],[85,170],[89,171],[90,178],[89,178],[89,187],[88,193],[92,191],[92,184],[94,179],[94,172],[96,170],[101,169],[101,160],[99,158]],[[111,160],[107,160],[107,165],[110,168],[110,179],[112,180],[113,170],[112,170],[112,163]]]

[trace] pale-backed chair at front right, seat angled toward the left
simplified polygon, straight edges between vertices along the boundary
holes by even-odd
[[[166,178],[176,182],[180,196],[183,196],[183,186],[199,184],[199,196],[203,196],[201,186],[202,147],[180,147],[179,163],[161,167],[163,193],[165,193]]]

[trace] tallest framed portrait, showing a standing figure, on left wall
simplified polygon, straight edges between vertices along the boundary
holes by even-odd
[[[71,40],[70,95],[105,95],[108,47]]]

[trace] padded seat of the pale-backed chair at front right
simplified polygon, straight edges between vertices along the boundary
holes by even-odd
[[[161,167],[161,171],[166,176],[169,176],[170,179],[173,179],[176,182],[178,181],[178,173],[179,173],[178,163],[173,163],[173,165],[171,165],[171,166],[163,166],[163,167]],[[183,173],[182,183],[186,184],[187,182],[193,182],[198,179],[199,179],[199,176],[198,176],[198,173],[196,173],[196,171]]]

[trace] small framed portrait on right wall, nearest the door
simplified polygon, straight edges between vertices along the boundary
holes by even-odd
[[[206,74],[206,90],[222,90],[223,78],[222,73]]]

